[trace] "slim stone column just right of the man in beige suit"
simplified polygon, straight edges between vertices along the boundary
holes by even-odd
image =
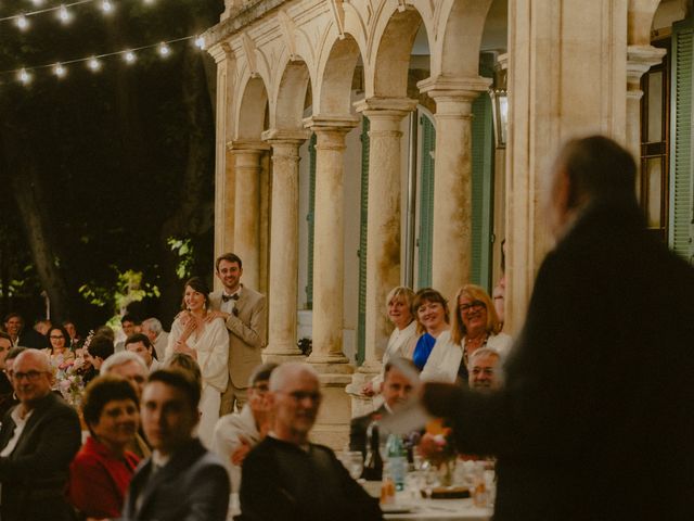
[[[296,346],[298,293],[299,147],[306,130],[267,130],[262,139],[272,147],[270,217],[270,284],[266,361],[303,359]]]

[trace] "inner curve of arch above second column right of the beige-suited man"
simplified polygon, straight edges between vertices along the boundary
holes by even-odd
[[[335,37],[320,78],[320,92],[316,92],[313,114],[350,114],[351,84],[361,51],[349,34]]]

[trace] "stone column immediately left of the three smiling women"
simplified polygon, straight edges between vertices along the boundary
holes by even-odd
[[[352,415],[367,414],[371,399],[362,398],[364,383],[381,372],[393,325],[386,296],[400,285],[400,141],[402,118],[416,109],[416,100],[371,98],[357,103],[369,117],[369,220],[367,231],[367,323],[364,364],[352,377]]]

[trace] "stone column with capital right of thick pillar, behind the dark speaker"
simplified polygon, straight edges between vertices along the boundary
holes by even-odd
[[[641,77],[653,65],[663,61],[666,50],[653,46],[627,48],[627,148],[633,154],[637,166],[641,157]]]

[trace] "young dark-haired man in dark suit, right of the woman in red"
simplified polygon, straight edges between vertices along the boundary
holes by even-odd
[[[154,452],[130,482],[121,521],[224,521],[229,476],[193,432],[200,385],[180,369],[150,376],[141,420]]]

